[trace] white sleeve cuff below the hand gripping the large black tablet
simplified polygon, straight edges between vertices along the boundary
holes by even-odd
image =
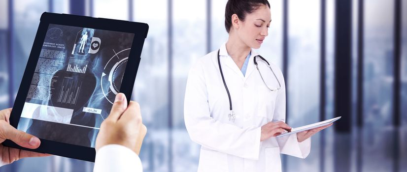
[[[96,152],[94,172],[142,172],[138,155],[131,149],[109,144]]]

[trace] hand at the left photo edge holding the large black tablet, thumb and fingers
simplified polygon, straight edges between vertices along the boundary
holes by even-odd
[[[0,143],[3,143],[6,139],[8,139],[22,147],[30,149],[38,148],[39,144],[41,143],[38,138],[31,134],[17,130],[10,125],[10,114],[11,108],[0,111]],[[25,157],[42,157],[49,155],[50,154],[21,150],[0,144],[0,166],[11,164],[12,162]]]

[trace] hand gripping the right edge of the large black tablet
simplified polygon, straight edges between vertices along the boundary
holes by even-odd
[[[96,151],[107,144],[120,144],[140,153],[147,128],[141,120],[140,106],[130,101],[123,93],[116,95],[110,115],[104,119],[96,138]]]

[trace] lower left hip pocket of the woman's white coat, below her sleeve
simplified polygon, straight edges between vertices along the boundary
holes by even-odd
[[[201,148],[198,172],[228,172],[228,154]]]

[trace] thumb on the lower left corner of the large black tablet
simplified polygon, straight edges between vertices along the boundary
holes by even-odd
[[[31,134],[27,134],[23,131],[15,129],[10,124],[2,125],[0,128],[0,137],[3,139],[8,139],[17,143],[20,146],[35,149],[38,148],[41,141]]]

